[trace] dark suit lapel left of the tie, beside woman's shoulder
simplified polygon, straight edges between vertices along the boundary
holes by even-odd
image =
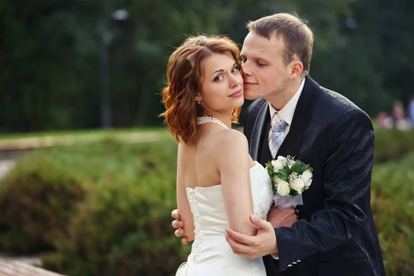
[[[265,134],[268,133],[268,130],[265,129],[266,120],[270,120],[270,111],[268,102],[264,101],[264,104],[256,117],[250,142],[250,155],[255,161],[259,161],[260,151],[262,150],[262,141]]]

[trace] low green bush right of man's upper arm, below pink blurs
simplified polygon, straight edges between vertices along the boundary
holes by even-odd
[[[400,159],[408,152],[414,152],[414,130],[375,129],[376,162]]]

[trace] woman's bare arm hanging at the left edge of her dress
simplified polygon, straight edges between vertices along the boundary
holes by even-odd
[[[177,208],[180,215],[180,220],[184,221],[184,237],[188,242],[194,240],[194,220],[193,213],[191,213],[190,204],[187,199],[187,191],[181,179],[181,172],[179,170],[179,162],[177,162]]]

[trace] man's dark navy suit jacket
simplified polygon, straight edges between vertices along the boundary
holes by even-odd
[[[246,110],[244,134],[260,164],[268,147],[270,112],[265,99]],[[370,205],[374,131],[351,101],[306,77],[288,135],[277,155],[313,167],[299,220],[275,228],[279,261],[264,257],[267,275],[385,275]]]

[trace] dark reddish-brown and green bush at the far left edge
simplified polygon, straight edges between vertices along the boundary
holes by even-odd
[[[67,156],[66,156],[67,157]],[[33,152],[21,160],[0,185],[0,247],[9,253],[53,248],[66,235],[68,219],[84,197],[81,170],[70,170],[76,158]]]

